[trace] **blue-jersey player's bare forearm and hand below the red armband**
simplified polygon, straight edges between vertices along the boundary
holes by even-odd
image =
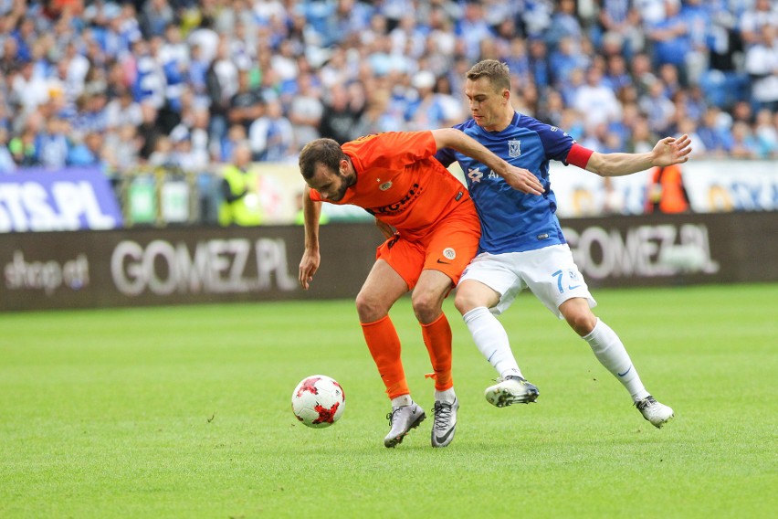
[[[623,176],[647,170],[654,166],[682,164],[689,160],[691,139],[689,135],[678,138],[665,137],[646,154],[598,154],[594,152],[586,164],[586,170],[600,176]]]

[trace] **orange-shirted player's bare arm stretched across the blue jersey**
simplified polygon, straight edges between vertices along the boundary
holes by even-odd
[[[432,131],[437,149],[453,148],[460,154],[468,155],[479,163],[491,168],[493,172],[505,179],[514,189],[530,195],[542,195],[543,185],[531,171],[508,164],[481,143],[456,128],[441,128]]]

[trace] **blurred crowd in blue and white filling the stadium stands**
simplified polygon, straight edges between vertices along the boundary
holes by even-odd
[[[0,0],[0,172],[293,163],[468,118],[483,58],[594,150],[778,157],[776,0]]]

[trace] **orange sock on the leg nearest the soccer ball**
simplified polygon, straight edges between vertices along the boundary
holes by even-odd
[[[362,332],[370,355],[373,355],[378,374],[384,381],[389,398],[408,395],[408,383],[400,358],[400,337],[394,329],[394,323],[385,316],[374,323],[362,323]]]

